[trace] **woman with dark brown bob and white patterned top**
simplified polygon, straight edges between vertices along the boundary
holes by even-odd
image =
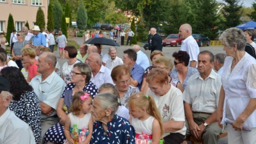
[[[76,58],[77,50],[74,46],[66,46],[64,48],[64,57],[68,59],[62,66],[62,79],[69,83],[71,80],[71,71],[75,63],[82,63],[79,59]]]

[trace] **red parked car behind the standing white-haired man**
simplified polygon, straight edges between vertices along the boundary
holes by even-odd
[[[179,34],[171,34],[164,39],[163,46],[166,46],[166,45],[179,46],[181,45],[181,41],[182,39],[179,36]]]

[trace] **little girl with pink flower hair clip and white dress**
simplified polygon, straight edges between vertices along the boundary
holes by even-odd
[[[79,144],[89,144],[93,126],[93,119],[91,118],[91,113],[89,113],[91,102],[92,96],[85,91],[77,91],[74,94],[71,104],[72,113],[68,114],[65,122],[64,134],[66,141],[64,144],[74,144],[71,137],[74,124],[79,129]]]

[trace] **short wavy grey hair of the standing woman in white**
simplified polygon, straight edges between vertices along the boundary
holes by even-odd
[[[247,38],[244,32],[236,27],[232,27],[226,29],[220,36],[219,41],[221,41],[224,45],[229,47],[233,47],[234,45],[238,45],[237,49],[239,51],[244,51],[245,46],[247,44]]]

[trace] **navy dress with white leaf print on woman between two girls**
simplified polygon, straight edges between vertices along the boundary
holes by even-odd
[[[94,122],[90,144],[135,144],[134,127],[125,118],[114,115],[107,126],[105,132],[102,122]]]

